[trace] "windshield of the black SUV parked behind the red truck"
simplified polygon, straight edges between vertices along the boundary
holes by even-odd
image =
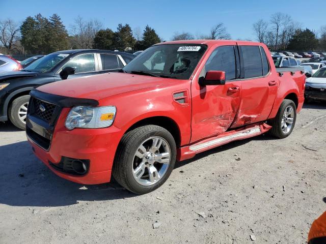
[[[51,53],[40,59],[37,59],[34,63],[26,67],[23,71],[45,73],[50,71],[53,67],[62,62],[63,59],[68,57],[67,53]]]

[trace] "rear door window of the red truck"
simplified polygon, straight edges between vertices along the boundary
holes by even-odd
[[[259,46],[241,46],[244,78],[262,76],[263,66]]]

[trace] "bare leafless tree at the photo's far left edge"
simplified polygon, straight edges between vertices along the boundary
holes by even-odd
[[[19,40],[19,25],[12,19],[0,21],[0,42],[11,51],[15,49],[15,43]]]

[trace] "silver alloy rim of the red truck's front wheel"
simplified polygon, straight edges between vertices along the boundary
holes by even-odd
[[[140,144],[133,156],[133,178],[142,186],[153,185],[166,174],[170,161],[169,143],[159,136],[150,137]]]

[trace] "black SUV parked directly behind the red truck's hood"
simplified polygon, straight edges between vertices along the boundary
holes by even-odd
[[[0,121],[25,129],[29,93],[63,79],[117,72],[135,55],[107,50],[65,50],[37,59],[25,69],[0,75]],[[118,80],[116,82],[119,82]],[[93,86],[96,84],[89,84]]]

